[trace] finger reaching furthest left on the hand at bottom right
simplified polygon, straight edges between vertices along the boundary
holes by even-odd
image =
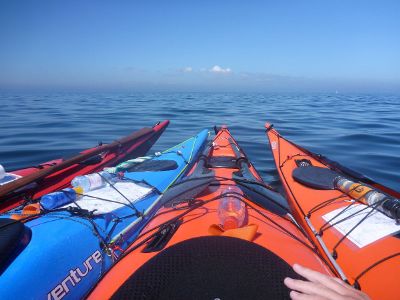
[[[327,287],[322,286],[319,283],[296,280],[292,278],[285,278],[284,284],[295,291],[311,296],[326,297],[328,299],[341,299],[342,295],[338,294],[335,290],[331,290]]]

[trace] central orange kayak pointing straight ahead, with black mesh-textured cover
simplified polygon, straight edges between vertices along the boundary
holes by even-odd
[[[243,223],[221,225],[223,199],[243,204]],[[292,264],[334,274],[225,126],[161,201],[89,299],[288,299]]]

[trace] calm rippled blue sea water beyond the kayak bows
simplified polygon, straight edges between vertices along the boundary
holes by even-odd
[[[400,190],[400,96],[213,93],[0,95],[0,164],[6,169],[70,156],[169,119],[165,149],[229,125],[265,179],[279,180],[264,133],[286,137]]]

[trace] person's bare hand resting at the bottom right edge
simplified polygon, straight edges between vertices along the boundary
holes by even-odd
[[[367,294],[356,290],[343,280],[330,277],[319,272],[307,269],[298,264],[293,270],[309,281],[286,277],[285,285],[291,289],[290,298],[293,300],[368,300]]]

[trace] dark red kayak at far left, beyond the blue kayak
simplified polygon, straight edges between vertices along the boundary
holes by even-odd
[[[152,128],[142,128],[111,144],[98,145],[69,159],[59,158],[7,173],[14,180],[0,183],[0,213],[66,188],[76,176],[98,172],[123,160],[145,155],[168,124],[167,120]]]

